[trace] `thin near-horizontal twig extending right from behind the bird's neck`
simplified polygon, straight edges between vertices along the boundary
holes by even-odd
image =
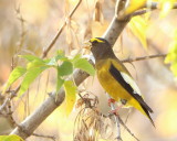
[[[131,62],[138,62],[149,58],[156,58],[156,57],[166,57],[167,54],[156,54],[156,55],[149,55],[149,56],[143,56],[143,57],[135,57],[135,58],[126,58],[121,61],[122,63],[131,63]]]

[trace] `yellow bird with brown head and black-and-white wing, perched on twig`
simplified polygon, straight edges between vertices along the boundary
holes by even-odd
[[[126,67],[115,56],[111,44],[101,37],[91,39],[91,52],[95,58],[97,78],[110,96],[125,107],[134,107],[154,124],[152,108],[144,101],[140,90]]]

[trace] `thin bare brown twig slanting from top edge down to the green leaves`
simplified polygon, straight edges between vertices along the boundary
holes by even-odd
[[[42,54],[42,58],[46,57],[49,51],[53,47],[53,45],[55,44],[56,40],[59,39],[60,34],[62,33],[63,29],[65,28],[65,25],[67,24],[67,20],[72,18],[72,15],[74,14],[74,12],[76,11],[76,9],[79,8],[79,6],[81,4],[82,0],[80,0],[77,2],[77,4],[75,6],[75,8],[71,11],[71,13],[69,14],[69,18],[64,21],[63,25],[61,26],[61,29],[59,30],[58,34],[55,35],[55,37],[53,39],[53,41],[51,42],[51,44],[46,47],[46,50],[43,52]]]

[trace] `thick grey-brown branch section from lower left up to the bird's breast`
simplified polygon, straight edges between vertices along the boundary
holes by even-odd
[[[79,86],[86,77],[88,77],[88,74],[76,69],[73,77],[69,79],[74,78],[75,84]],[[55,93],[51,93],[48,99],[32,115],[24,119],[22,123],[20,123],[19,127],[17,127],[10,134],[18,134],[23,139],[31,135],[43,120],[45,120],[45,118],[63,102],[65,98],[64,89],[61,88],[58,94],[58,98],[55,98]]]

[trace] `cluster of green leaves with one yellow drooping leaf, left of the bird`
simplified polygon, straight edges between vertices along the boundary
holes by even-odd
[[[66,80],[65,78],[72,75],[75,68],[80,68],[92,76],[95,72],[88,61],[82,58],[81,55],[77,54],[73,58],[69,58],[62,51],[58,51],[54,57],[48,59],[42,59],[33,55],[20,55],[20,57],[25,58],[28,64],[25,67],[18,66],[12,70],[3,91],[6,91],[15,80],[23,76],[19,90],[19,96],[21,96],[28,90],[30,85],[37,79],[38,76],[41,75],[43,70],[55,68],[58,72],[55,91],[58,94],[60,88],[64,85],[67,115],[72,111],[75,104],[76,86],[74,85],[74,82]]]

